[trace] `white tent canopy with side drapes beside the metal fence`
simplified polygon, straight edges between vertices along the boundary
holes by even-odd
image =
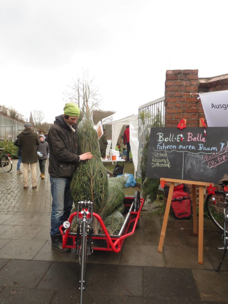
[[[128,116],[125,116],[129,112]],[[130,126],[130,146],[135,170],[138,167],[138,109],[118,111],[102,119],[102,125],[112,125],[112,148],[115,149],[119,133],[124,125]]]

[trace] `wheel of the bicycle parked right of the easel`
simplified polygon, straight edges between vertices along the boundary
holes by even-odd
[[[206,197],[206,209],[212,222],[221,230],[224,231],[224,208],[225,208],[225,192],[215,190],[215,195],[209,194]]]

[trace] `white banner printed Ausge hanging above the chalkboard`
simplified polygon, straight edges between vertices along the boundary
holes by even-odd
[[[228,126],[228,91],[199,94],[209,127]]]

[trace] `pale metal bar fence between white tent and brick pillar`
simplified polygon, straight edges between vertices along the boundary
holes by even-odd
[[[139,150],[138,150],[138,164],[140,164],[143,146],[146,143],[147,130],[151,128],[154,122],[154,117],[160,113],[161,121],[165,123],[165,104],[164,97],[158,98],[154,101],[148,102],[139,107]],[[140,167],[137,170],[137,177],[140,177]]]

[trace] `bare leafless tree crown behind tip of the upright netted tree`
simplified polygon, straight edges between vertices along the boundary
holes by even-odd
[[[64,102],[71,101],[78,104],[79,108],[82,109],[83,100],[85,98],[85,88],[88,87],[90,91],[89,103],[90,107],[98,108],[102,97],[99,93],[99,88],[94,85],[94,78],[90,79],[88,71],[83,72],[83,76],[78,77],[77,80],[72,78],[72,84],[68,85],[69,92],[64,92],[66,99]]]

